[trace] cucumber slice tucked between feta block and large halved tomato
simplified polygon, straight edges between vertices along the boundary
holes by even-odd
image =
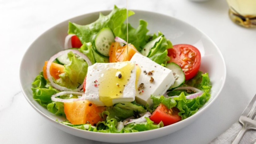
[[[170,70],[172,70],[172,73],[174,74],[175,82],[174,84],[167,90],[172,91],[173,89],[181,86],[185,82],[185,74],[180,68],[179,65],[177,65],[174,62],[167,63],[166,67]]]

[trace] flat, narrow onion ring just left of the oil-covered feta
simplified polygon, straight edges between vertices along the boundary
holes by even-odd
[[[62,95],[66,95],[66,94],[76,94],[76,95],[79,95],[81,96],[80,98],[71,98],[71,99],[61,99],[61,98],[56,98],[57,96],[62,96]],[[64,103],[67,103],[67,102],[72,102],[72,101],[82,101],[84,100],[84,93],[81,93],[81,92],[76,92],[76,91],[62,91],[60,93],[57,93],[57,94],[53,94],[52,95],[52,101],[59,101],[59,102],[64,102]]]

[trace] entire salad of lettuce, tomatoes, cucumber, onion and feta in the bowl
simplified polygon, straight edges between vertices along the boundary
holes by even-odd
[[[66,118],[57,122],[93,132],[141,132],[184,120],[211,98],[196,47],[173,46],[160,31],[149,34],[144,20],[138,27],[124,24],[127,15],[134,12],[115,6],[91,24],[69,22],[64,49],[42,62],[33,99]]]

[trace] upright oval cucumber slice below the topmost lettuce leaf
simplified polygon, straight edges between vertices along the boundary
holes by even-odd
[[[115,41],[115,36],[112,30],[108,27],[105,27],[100,30],[97,34],[94,44],[96,50],[105,56],[109,56],[109,49],[112,42]]]

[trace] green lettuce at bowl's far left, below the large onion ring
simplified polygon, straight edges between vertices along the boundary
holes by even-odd
[[[50,86],[49,82],[43,77],[43,72],[36,76],[32,82],[31,89],[34,100],[38,101],[41,106],[47,108],[48,111],[55,115],[65,116],[63,103],[53,102],[51,99],[51,96],[58,93],[58,90]]]

